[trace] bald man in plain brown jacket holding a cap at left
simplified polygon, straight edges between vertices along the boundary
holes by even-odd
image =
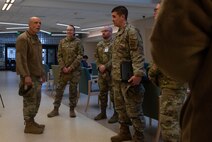
[[[16,40],[16,72],[20,75],[19,95],[23,96],[24,132],[41,134],[45,125],[34,121],[41,101],[41,85],[45,81],[42,45],[37,36],[41,19],[31,17],[28,25],[28,30],[19,35]]]

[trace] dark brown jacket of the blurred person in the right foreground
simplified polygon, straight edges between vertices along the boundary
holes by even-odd
[[[182,142],[212,142],[212,1],[164,0],[151,35],[152,56],[171,77],[189,82]]]

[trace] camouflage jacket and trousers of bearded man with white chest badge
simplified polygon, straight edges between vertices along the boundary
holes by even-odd
[[[105,65],[106,71],[104,73],[100,73],[98,75],[98,84],[100,88],[99,98],[101,101],[101,109],[106,110],[107,102],[108,102],[108,91],[110,91],[110,99],[114,104],[114,93],[112,89],[112,81],[111,81],[111,67],[108,66],[109,61],[111,60],[111,49],[112,49],[112,38],[109,40],[100,41],[97,44],[94,58],[97,64]]]

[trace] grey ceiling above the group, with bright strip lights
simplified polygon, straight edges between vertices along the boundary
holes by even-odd
[[[85,28],[112,25],[111,10],[118,5],[128,8],[128,21],[151,17],[157,0],[16,0],[8,11],[0,11],[0,22],[27,24],[29,17],[42,19],[42,30],[62,32],[64,26],[56,23],[73,24],[81,31]],[[5,0],[0,0],[3,7]],[[10,31],[15,25],[0,24],[1,31]],[[12,30],[14,31],[14,30]],[[86,30],[83,30],[86,31]]]

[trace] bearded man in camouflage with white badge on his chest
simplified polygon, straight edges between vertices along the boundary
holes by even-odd
[[[104,27],[102,30],[103,41],[100,41],[97,44],[94,58],[99,70],[98,75],[98,84],[100,88],[99,99],[101,102],[101,113],[98,114],[94,119],[101,120],[107,118],[106,107],[108,102],[108,91],[110,91],[110,100],[113,103],[114,114],[109,119],[109,123],[118,122],[118,114],[115,111],[114,104],[114,93],[112,88],[111,80],[111,67],[108,66],[109,61],[111,60],[111,49],[112,49],[112,33],[113,29],[111,27]]]

